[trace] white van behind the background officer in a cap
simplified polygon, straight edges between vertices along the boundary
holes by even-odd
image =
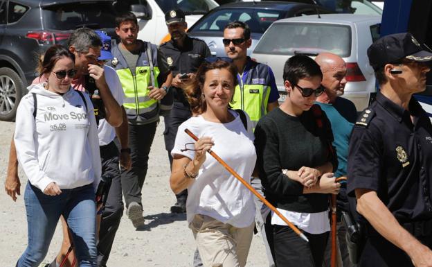
[[[126,8],[138,18],[140,31],[138,39],[160,44],[168,41],[168,28],[165,24],[165,12],[181,9],[186,14],[188,27],[192,26],[206,12],[219,6],[215,0],[118,0],[114,4],[117,10]]]

